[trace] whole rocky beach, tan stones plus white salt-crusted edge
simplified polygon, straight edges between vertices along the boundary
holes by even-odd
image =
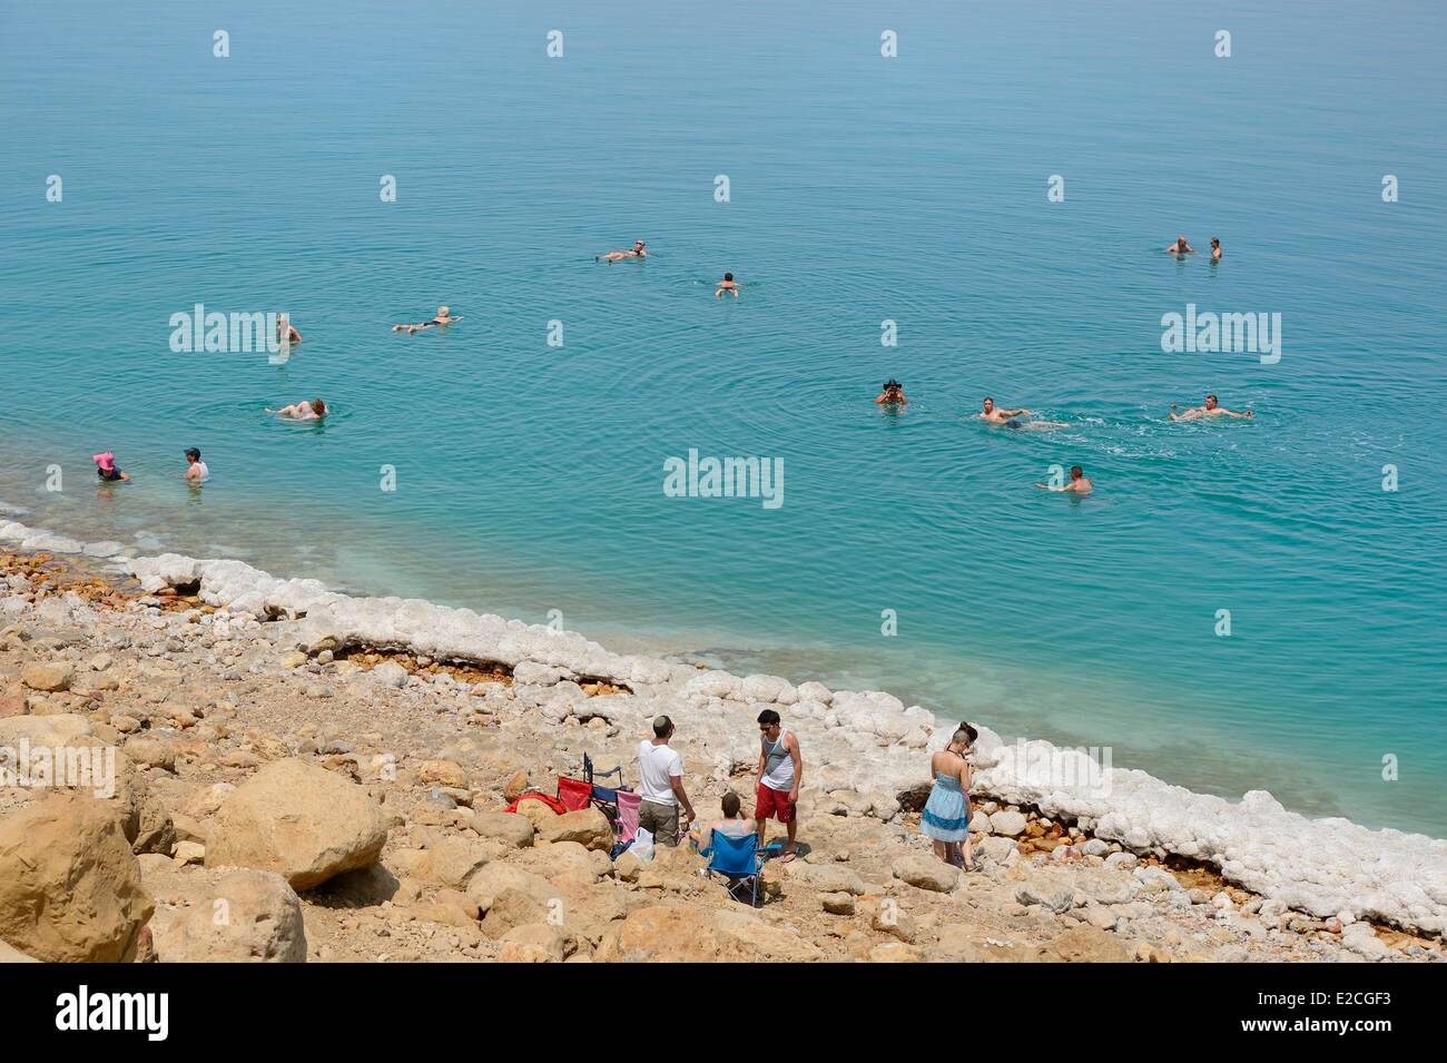
[[[1443,840],[1191,794],[984,720],[983,871],[962,874],[919,833],[928,752],[954,722],[886,693],[13,521],[0,542],[0,953],[16,962],[1447,957]],[[806,774],[800,859],[765,865],[760,908],[687,846],[609,859],[596,810],[504,811],[585,754],[635,784],[660,713],[699,813],[729,788],[748,807],[761,707]]]

